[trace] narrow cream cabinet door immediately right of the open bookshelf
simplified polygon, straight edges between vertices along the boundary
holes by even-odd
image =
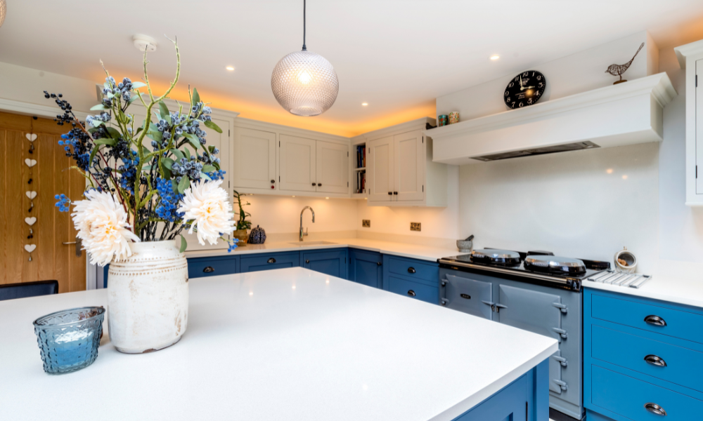
[[[393,136],[368,142],[366,149],[368,201],[393,199],[393,165]]]

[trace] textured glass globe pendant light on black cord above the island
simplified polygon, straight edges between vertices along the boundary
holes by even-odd
[[[281,107],[297,116],[318,116],[337,100],[340,81],[335,69],[323,56],[307,51],[305,46],[305,0],[303,49],[286,55],[273,68],[271,91]]]

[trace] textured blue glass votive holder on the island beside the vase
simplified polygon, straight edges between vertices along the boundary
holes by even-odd
[[[103,336],[103,307],[81,307],[47,314],[34,321],[34,333],[50,374],[70,373],[98,358]]]

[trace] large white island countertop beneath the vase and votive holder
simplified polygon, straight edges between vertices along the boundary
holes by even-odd
[[[32,321],[106,290],[0,302],[4,420],[449,421],[557,342],[303,268],[191,279],[188,330],[47,375]],[[107,330],[107,323],[104,325]]]

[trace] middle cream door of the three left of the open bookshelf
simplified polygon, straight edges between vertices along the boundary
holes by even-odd
[[[316,140],[291,135],[279,135],[279,139],[278,187],[281,190],[316,192]]]

